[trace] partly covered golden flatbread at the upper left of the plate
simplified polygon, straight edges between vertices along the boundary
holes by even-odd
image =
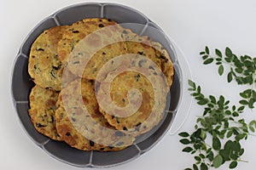
[[[63,65],[57,54],[57,44],[67,27],[49,28],[32,43],[28,72],[32,80],[43,88],[61,90]]]

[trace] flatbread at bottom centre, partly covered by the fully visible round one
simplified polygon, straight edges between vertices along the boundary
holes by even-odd
[[[78,82],[79,80],[75,80],[63,88],[57,102],[56,129],[61,138],[79,150],[113,151],[125,149],[123,144],[131,145],[134,140],[132,137],[126,135],[126,138],[119,139],[120,135],[124,136],[125,134],[121,132],[108,133],[108,130],[104,129],[104,127],[108,129],[113,129],[113,127],[98,111],[94,82],[84,79],[81,82],[81,88],[79,88]],[[78,95],[78,91],[81,91],[82,97]],[[66,103],[63,98],[69,98],[71,95],[73,98]],[[88,113],[84,113],[82,106],[79,105],[79,99],[83,99]],[[67,111],[69,112],[67,113]],[[90,119],[94,122],[90,123]],[[96,124],[100,126],[96,126]],[[84,137],[87,135],[92,135],[91,139]],[[98,144],[103,140],[107,140],[108,145],[103,145],[103,142]]]

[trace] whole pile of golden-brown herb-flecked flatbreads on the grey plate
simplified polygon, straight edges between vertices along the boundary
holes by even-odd
[[[108,27],[110,29],[104,31]],[[99,35],[101,31],[103,33]],[[97,34],[91,36],[94,32]],[[84,49],[79,51],[79,44],[86,37],[91,41],[85,51],[102,43],[108,45],[93,53],[84,67],[81,65],[84,65],[86,54]],[[143,56],[154,66],[139,57],[129,62],[127,54]],[[113,59],[121,55],[128,59],[127,63],[122,61],[112,66]],[[149,70],[148,74],[128,69],[142,65],[144,70]],[[106,70],[102,71],[104,76],[97,81],[103,67]],[[125,67],[127,71],[113,77],[121,70],[119,67]],[[158,84],[158,88],[166,85],[169,90],[174,74],[170,56],[159,42],[138,36],[113,20],[94,18],[80,20],[71,26],[55,26],[41,33],[32,43],[28,72],[35,82],[29,96],[28,113],[38,132],[79,150],[99,151],[123,150],[133,144],[137,136],[148,133],[163,119],[166,95],[157,96],[160,94],[155,93],[152,83]],[[157,78],[165,80],[166,84],[155,81]],[[119,112],[133,101],[129,90],[137,89],[142,99],[137,111],[129,116],[118,116],[109,108],[106,111],[99,101],[104,99],[106,89],[102,88],[106,87],[106,83],[110,87],[108,93],[113,105],[119,108]],[[79,96],[76,96],[78,91]],[[69,97],[70,100],[65,102],[64,99]],[[86,113],[78,104],[81,99]],[[158,109],[154,110],[154,107]]]

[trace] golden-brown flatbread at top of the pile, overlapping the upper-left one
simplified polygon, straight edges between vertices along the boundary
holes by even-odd
[[[59,57],[62,63],[67,63],[67,67],[74,75],[95,80],[102,65],[109,59],[125,54],[126,48],[125,42],[122,41],[121,30],[122,27],[108,19],[84,19],[76,22],[63,33],[58,43]],[[96,31],[101,32],[95,33]],[[84,38],[88,38],[90,42],[85,43],[86,40],[83,43]],[[117,42],[108,44],[111,39]],[[102,48],[97,49],[96,53],[92,52],[94,48],[100,46]],[[90,59],[86,67],[84,58]]]

